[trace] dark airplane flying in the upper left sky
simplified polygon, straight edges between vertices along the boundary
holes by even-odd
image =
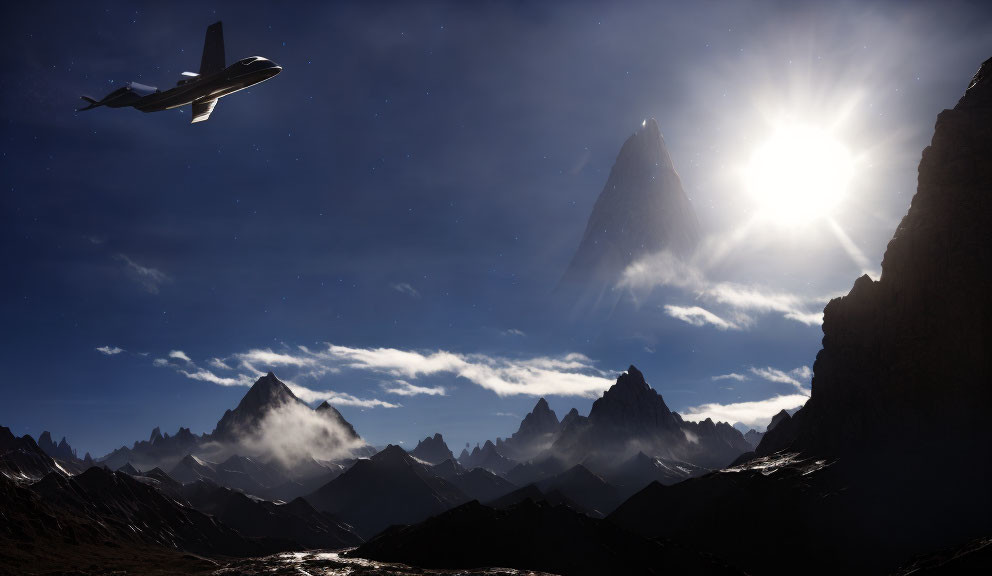
[[[282,72],[282,66],[261,56],[244,58],[225,67],[224,29],[220,22],[215,22],[207,27],[200,71],[183,72],[183,77],[175,88],[162,92],[154,86],[129,82],[127,86],[114,90],[99,101],[81,96],[89,105],[76,111],[92,110],[98,106],[130,106],[142,112],[159,112],[192,104],[193,120],[190,123],[195,124],[210,118],[217,100],[222,96],[264,82],[279,72]]]

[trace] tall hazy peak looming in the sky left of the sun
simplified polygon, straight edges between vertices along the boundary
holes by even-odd
[[[642,256],[668,250],[687,258],[699,221],[654,118],[624,142],[585,233],[559,286],[581,307],[612,305],[623,270]]]

